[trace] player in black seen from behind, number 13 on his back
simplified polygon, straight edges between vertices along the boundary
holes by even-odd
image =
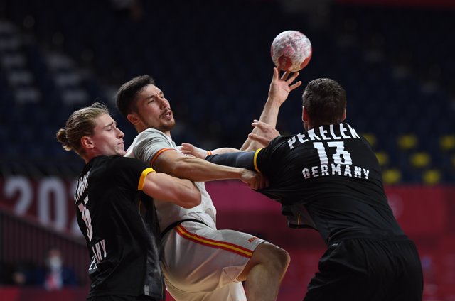
[[[343,122],[343,87],[326,78],[313,80],[303,104],[303,133],[278,136],[255,122],[272,134],[262,141],[278,137],[257,151],[206,160],[264,173],[270,186],[260,192],[281,202],[289,226],[319,231],[328,248],[305,301],[422,300],[417,248],[392,214],[368,142]]]

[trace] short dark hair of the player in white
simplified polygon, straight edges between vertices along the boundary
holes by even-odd
[[[137,94],[142,92],[149,84],[155,84],[155,80],[150,75],[134,77],[129,82],[125,82],[117,92],[117,109],[120,114],[127,119],[128,114],[137,111]]]

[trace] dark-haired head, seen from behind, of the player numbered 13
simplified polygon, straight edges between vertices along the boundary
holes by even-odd
[[[330,78],[318,78],[306,85],[302,95],[312,126],[338,124],[346,110],[346,91]]]

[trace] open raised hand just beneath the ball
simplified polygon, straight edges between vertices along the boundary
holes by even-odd
[[[301,81],[292,84],[298,76],[299,72],[291,73],[286,71],[280,77],[278,68],[274,67],[272,82],[270,83],[269,88],[269,99],[273,102],[277,102],[279,105],[283,104],[283,102],[286,101],[289,92],[300,87]]]

